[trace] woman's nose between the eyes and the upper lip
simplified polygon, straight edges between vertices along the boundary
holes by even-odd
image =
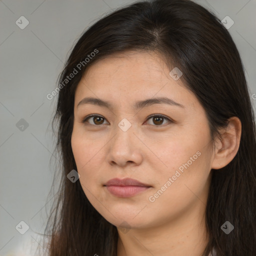
[[[108,143],[107,161],[111,165],[124,167],[126,164],[139,165],[142,161],[142,143],[138,139],[136,130],[131,125],[127,130],[127,123],[120,122],[114,128],[114,135]]]

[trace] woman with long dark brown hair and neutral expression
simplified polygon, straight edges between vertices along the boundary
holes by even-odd
[[[255,255],[254,113],[217,17],[189,0],[118,9],[81,35],[57,92],[50,256]]]

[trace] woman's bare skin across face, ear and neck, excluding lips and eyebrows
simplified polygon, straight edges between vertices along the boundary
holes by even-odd
[[[241,123],[232,117],[221,130],[223,139],[211,150],[203,107],[169,72],[159,54],[130,51],[91,65],[75,91],[71,146],[79,181],[93,207],[117,227],[117,256],[200,255],[207,243],[204,212],[211,169],[228,164],[239,147]],[[109,101],[112,108],[88,103],[77,107],[88,96]],[[132,107],[137,100],[156,96],[184,107],[160,103]],[[82,123],[88,114],[103,119],[90,117]],[[173,121],[148,119],[150,114]],[[123,118],[131,124],[126,131],[118,126]],[[197,151],[197,159],[149,201]],[[134,178],[151,187],[131,197],[117,197],[103,186],[114,177]]]

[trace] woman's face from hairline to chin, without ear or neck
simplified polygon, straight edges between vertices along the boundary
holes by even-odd
[[[147,228],[202,211],[213,156],[195,95],[156,53],[128,53],[99,60],[84,73],[75,91],[71,146],[93,207],[116,226]],[[165,101],[150,101],[156,97]],[[105,186],[126,177],[147,186]]]

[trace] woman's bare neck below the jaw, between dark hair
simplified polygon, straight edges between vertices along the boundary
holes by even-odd
[[[117,256],[202,255],[208,238],[201,212],[205,212],[205,204],[196,200],[196,204],[164,225],[131,228],[127,233],[117,229]]]

